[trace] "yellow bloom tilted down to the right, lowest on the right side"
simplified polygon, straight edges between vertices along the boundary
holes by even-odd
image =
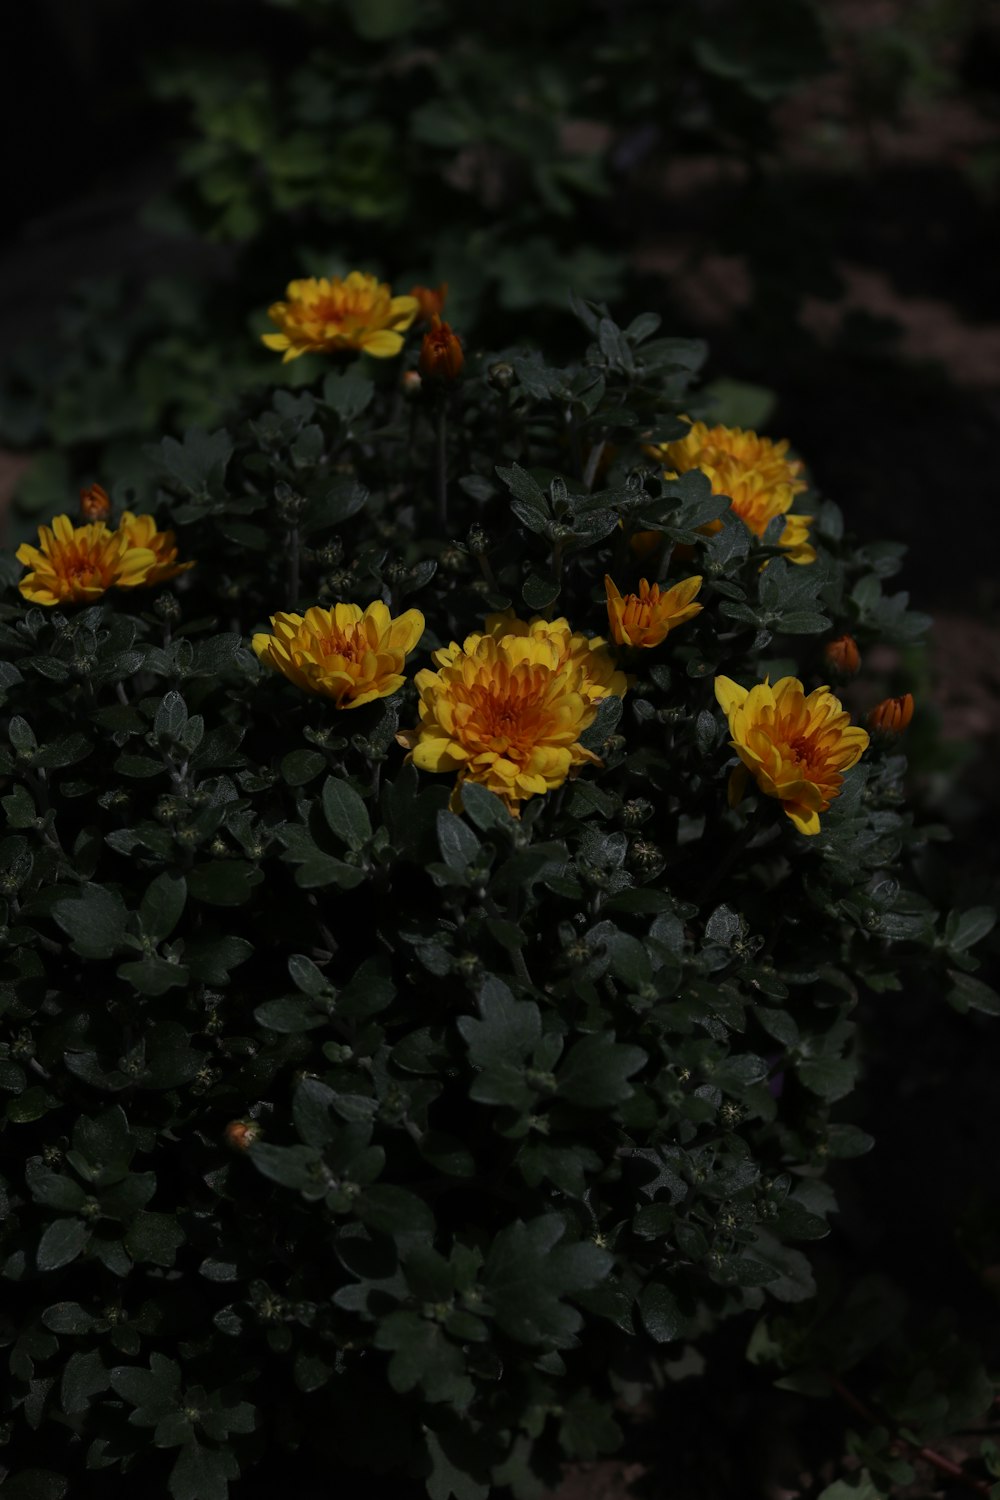
[[[715,678],[715,698],[729,718],[730,744],[742,765],[729,780],[735,807],[753,776],[765,796],[777,796],[799,832],[817,834],[820,813],[840,795],[844,771],[868,747],[868,735],[828,687],[808,696],[796,676],[774,687],[765,678],[750,690]]]

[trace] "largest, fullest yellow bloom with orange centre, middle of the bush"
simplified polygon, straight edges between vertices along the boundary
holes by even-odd
[[[421,771],[456,771],[501,796],[514,816],[528,796],[562,786],[582,765],[600,765],[580,735],[597,705],[579,666],[535,636],[469,636],[417,674],[420,724],[397,735]]]

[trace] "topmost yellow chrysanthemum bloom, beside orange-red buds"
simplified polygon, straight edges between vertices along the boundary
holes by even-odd
[[[280,333],[262,334],[268,350],[285,356],[331,354],[363,350],[376,358],[391,358],[403,346],[403,333],[418,312],[415,297],[393,297],[391,288],[364,272],[307,278],[288,284],[288,302],[267,309]]]

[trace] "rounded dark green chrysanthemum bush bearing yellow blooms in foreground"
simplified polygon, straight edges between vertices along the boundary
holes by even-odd
[[[786,682],[783,780],[748,726],[921,634],[901,549],[697,447],[700,345],[576,310],[567,366],[445,327],[423,382],[411,333],[249,394],[153,450],[175,537],[94,489],[6,567],[12,1496],[225,1500],[276,1449],[538,1496],[811,1305],[859,987],[999,1008],[898,735]]]

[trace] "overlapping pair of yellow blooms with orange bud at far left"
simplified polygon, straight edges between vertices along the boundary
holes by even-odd
[[[55,516],[51,526],[39,526],[36,548],[18,548],[16,560],[28,568],[18,588],[33,604],[91,604],[109,588],[154,588],[195,566],[177,561],[174,532],[157,531],[153,516],[124,510],[109,531],[103,518],[111,502],[100,484],[82,492],[81,508],[102,519],[75,526],[69,516]]]

